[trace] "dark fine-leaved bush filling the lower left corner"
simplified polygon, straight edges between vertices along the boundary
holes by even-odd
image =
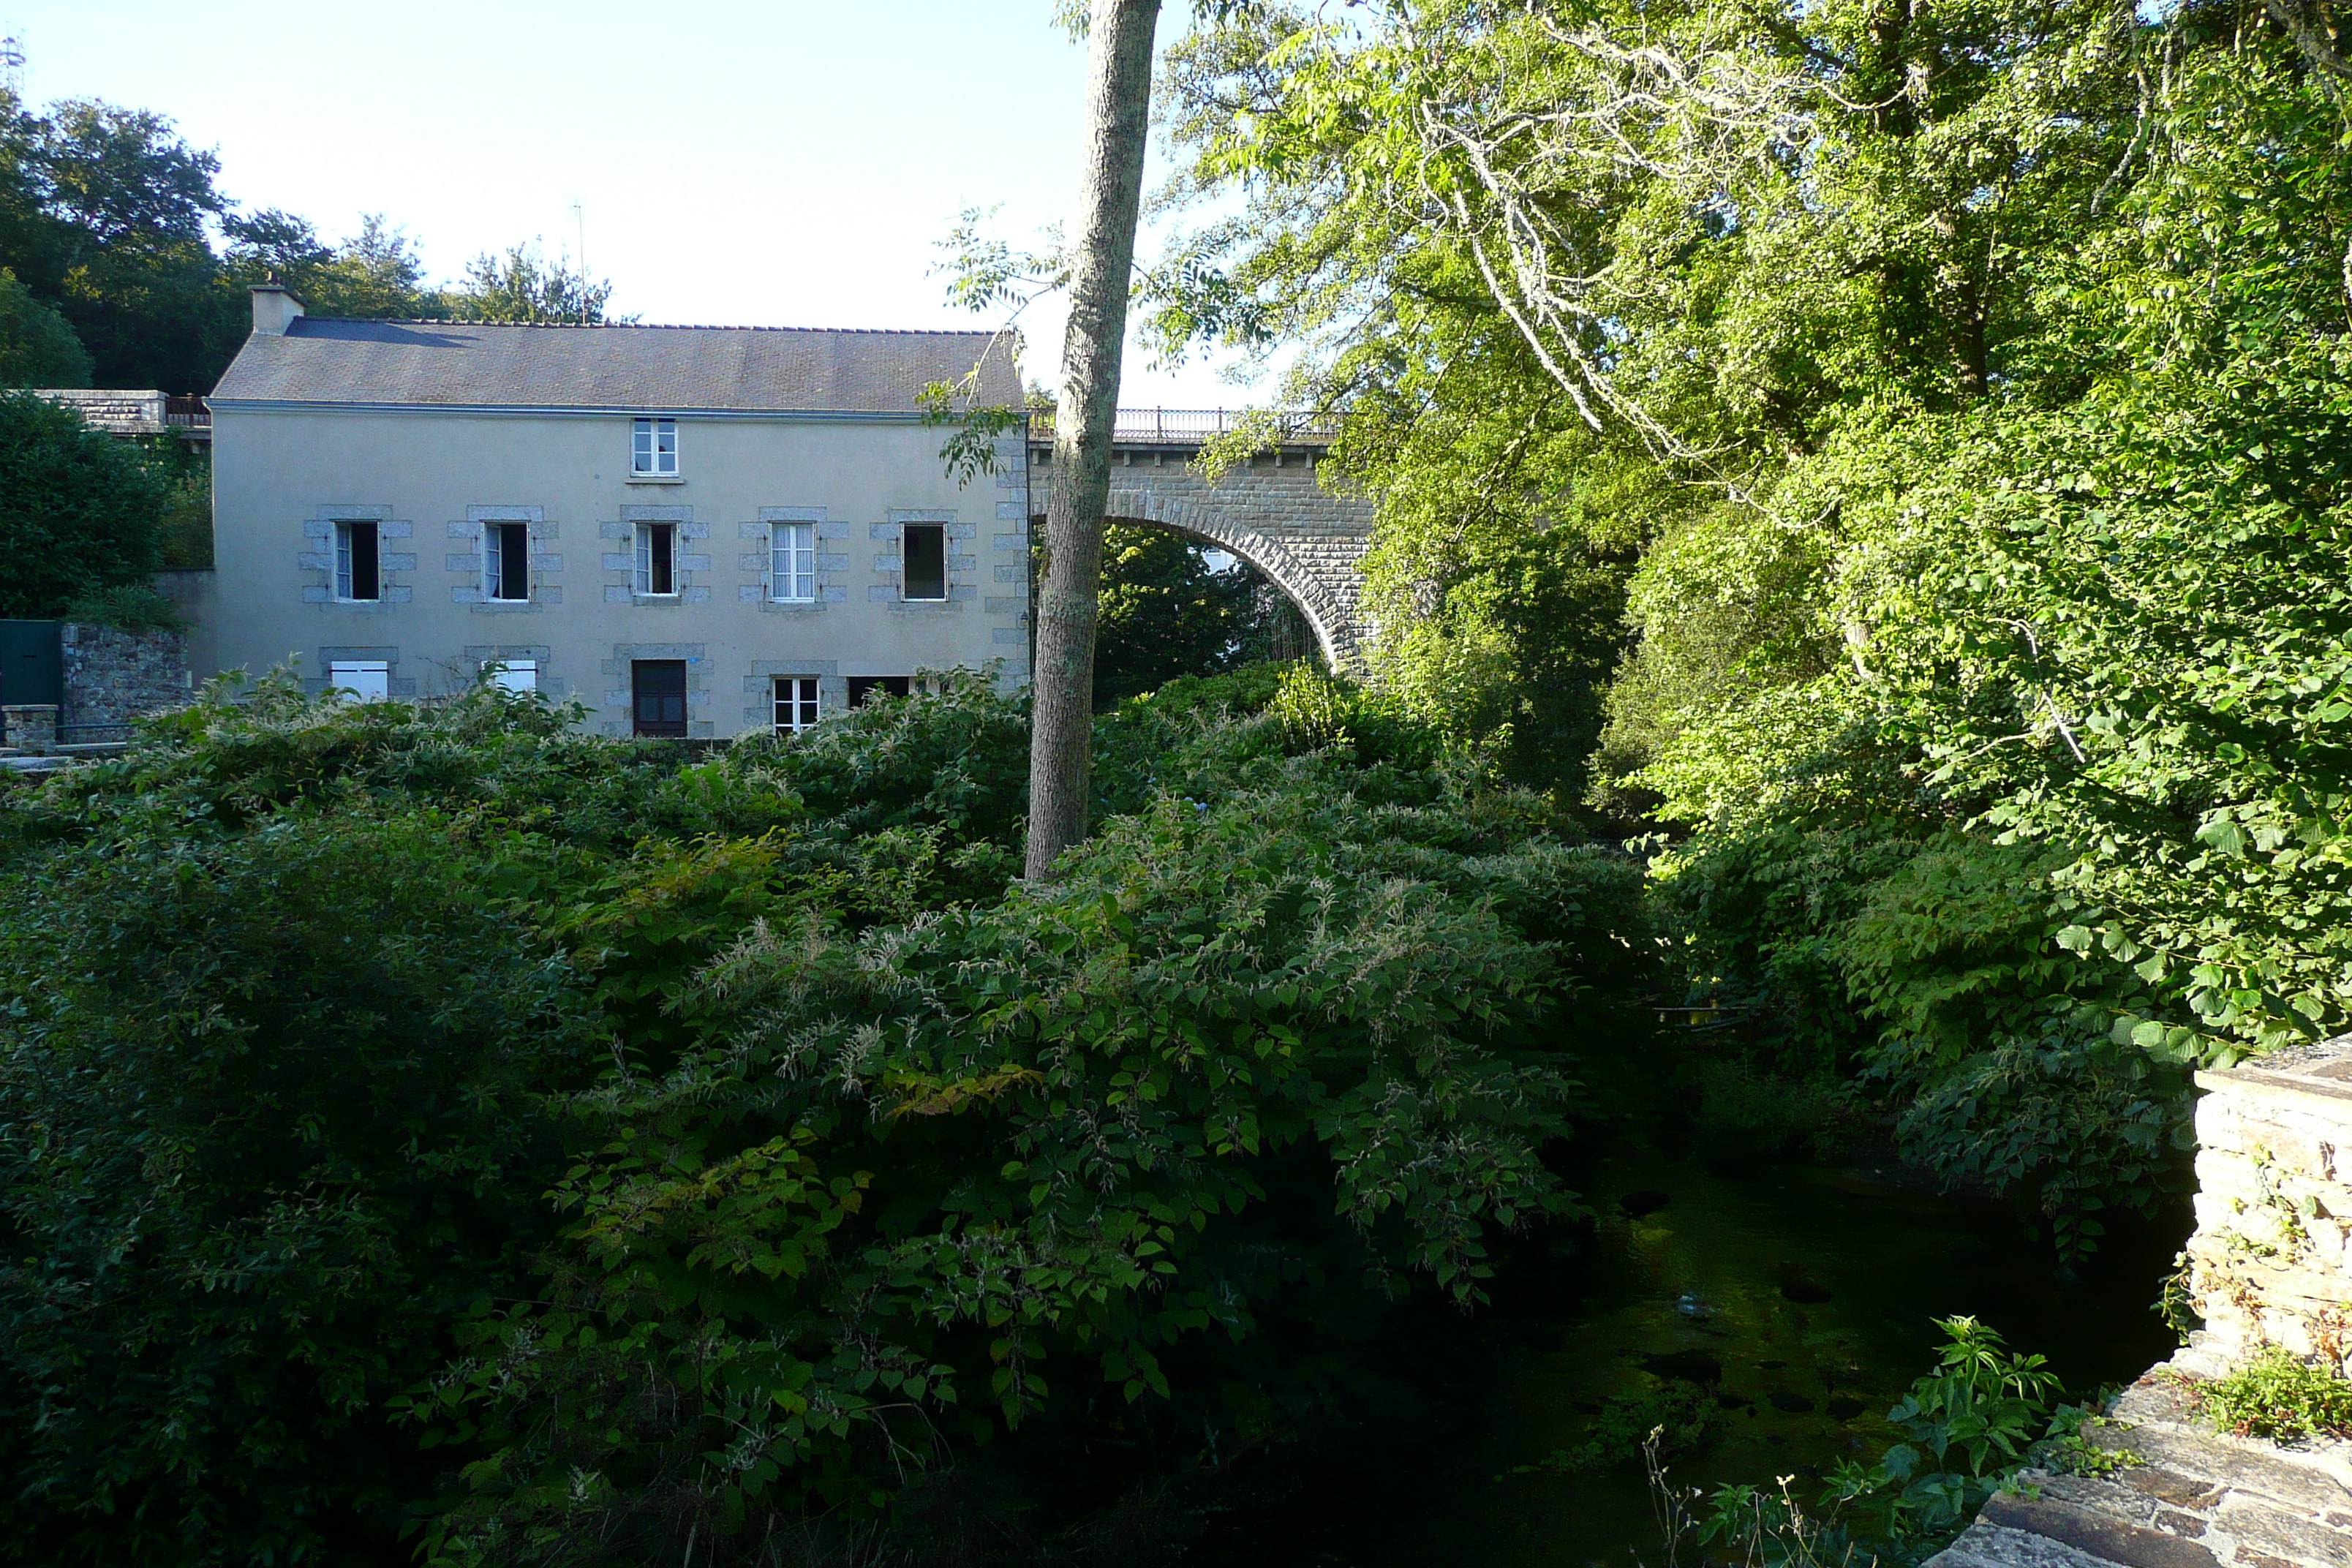
[[[539,1091],[600,1044],[473,823],[111,839],[0,917],[0,1521],[24,1561],[350,1549],[433,1483],[383,1399],[524,1286]]]

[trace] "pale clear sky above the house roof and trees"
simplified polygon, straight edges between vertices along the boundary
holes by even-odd
[[[329,237],[383,212],[442,280],[534,235],[576,252],[579,202],[588,270],[647,322],[995,327],[946,308],[934,242],[997,205],[1028,242],[1077,195],[1087,61],[1051,0],[0,0],[0,24],[33,103],[165,113],[242,207]],[[1171,0],[1162,42],[1183,24]],[[1051,383],[1061,315],[1023,327]],[[1129,348],[1129,407],[1249,397]]]

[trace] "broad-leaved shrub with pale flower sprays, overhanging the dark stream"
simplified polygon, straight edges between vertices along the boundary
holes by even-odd
[[[868,1505],[943,1434],[1181,1399],[1336,1276],[1475,1300],[1496,1232],[1576,1211],[1559,954],[1628,950],[1637,867],[1334,783],[1162,797],[997,905],[746,931],[677,994],[701,1048],[572,1098],[546,1288],[419,1392],[482,1455],[433,1549]]]

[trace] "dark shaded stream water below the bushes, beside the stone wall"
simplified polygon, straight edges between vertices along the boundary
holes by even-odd
[[[1576,1182],[1590,1234],[1501,1269],[1496,1302],[1397,1328],[1376,1392],[1244,1469],[1190,1568],[1623,1568],[1663,1561],[1635,1467],[1541,1469],[1611,1394],[1719,1368],[1722,1434],[1672,1479],[1712,1488],[1875,1460],[1886,1408],[1933,1361],[1931,1319],[1971,1314],[2070,1392],[2129,1382],[2173,1335],[2157,1298],[2187,1218],[2117,1227],[2065,1274],[2016,1213],[1879,1168],[1710,1171],[1628,1152]],[[1536,1474],[1512,1474],[1538,1467]]]

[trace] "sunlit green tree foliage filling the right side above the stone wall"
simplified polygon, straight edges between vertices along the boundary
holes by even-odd
[[[2352,1020],[2338,33],[1376,0],[1171,71],[1176,193],[1242,212],[1162,346],[1308,343],[1395,689],[1496,748],[1599,698],[1552,776],[1679,837],[1691,985],[2070,1244],[2161,1190],[2187,1065]],[[1543,557],[1602,569],[1538,609]]]

